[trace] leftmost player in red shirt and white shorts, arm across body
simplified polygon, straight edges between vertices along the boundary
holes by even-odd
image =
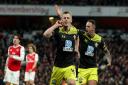
[[[13,37],[13,45],[8,48],[8,58],[5,64],[4,82],[6,85],[19,85],[21,62],[24,60],[25,49],[20,45],[20,37]]]

